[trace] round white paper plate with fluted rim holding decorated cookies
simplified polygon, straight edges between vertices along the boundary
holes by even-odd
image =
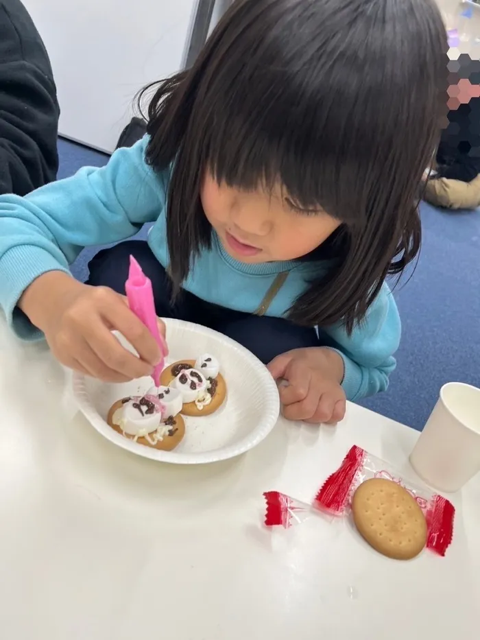
[[[99,433],[123,449],[152,460],[176,464],[201,464],[234,458],[259,444],[275,426],[280,410],[276,383],[267,368],[250,351],[230,338],[182,320],[165,320],[169,357],[167,364],[211,353],[220,362],[227,384],[221,408],[202,418],[184,416],[186,434],[173,451],[157,451],[124,438],[106,423],[111,405],[152,387],[151,378],[125,384],[107,384],[73,375],[73,394],[84,416]],[[128,346],[121,336],[119,340]]]

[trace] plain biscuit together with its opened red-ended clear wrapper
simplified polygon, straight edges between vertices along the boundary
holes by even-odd
[[[355,497],[357,489],[373,479],[393,482],[397,488],[376,482],[370,484],[368,491],[363,487]],[[407,559],[417,555],[423,546],[444,556],[453,538],[455,508],[450,501],[424,484],[401,477],[387,462],[357,446],[348,451],[337,471],[326,479],[313,503],[278,491],[268,491],[264,497],[265,525],[284,528],[301,523],[315,511],[345,516],[352,511],[353,502],[354,520],[361,535],[390,557]],[[392,535],[396,529],[405,534]]]

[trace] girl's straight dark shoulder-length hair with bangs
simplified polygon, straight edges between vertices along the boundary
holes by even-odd
[[[289,310],[348,331],[420,248],[418,191],[446,108],[447,37],[435,0],[237,0],[193,67],[149,104],[147,162],[172,167],[178,292],[212,229],[206,169],[230,187],[280,180],[341,221],[337,261]]]

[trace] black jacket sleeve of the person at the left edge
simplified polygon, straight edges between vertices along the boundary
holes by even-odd
[[[47,51],[20,0],[0,0],[0,193],[55,180],[58,108]]]

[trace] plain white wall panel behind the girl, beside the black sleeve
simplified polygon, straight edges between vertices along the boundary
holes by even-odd
[[[60,133],[112,151],[143,85],[180,69],[195,0],[23,0],[49,51]]]

